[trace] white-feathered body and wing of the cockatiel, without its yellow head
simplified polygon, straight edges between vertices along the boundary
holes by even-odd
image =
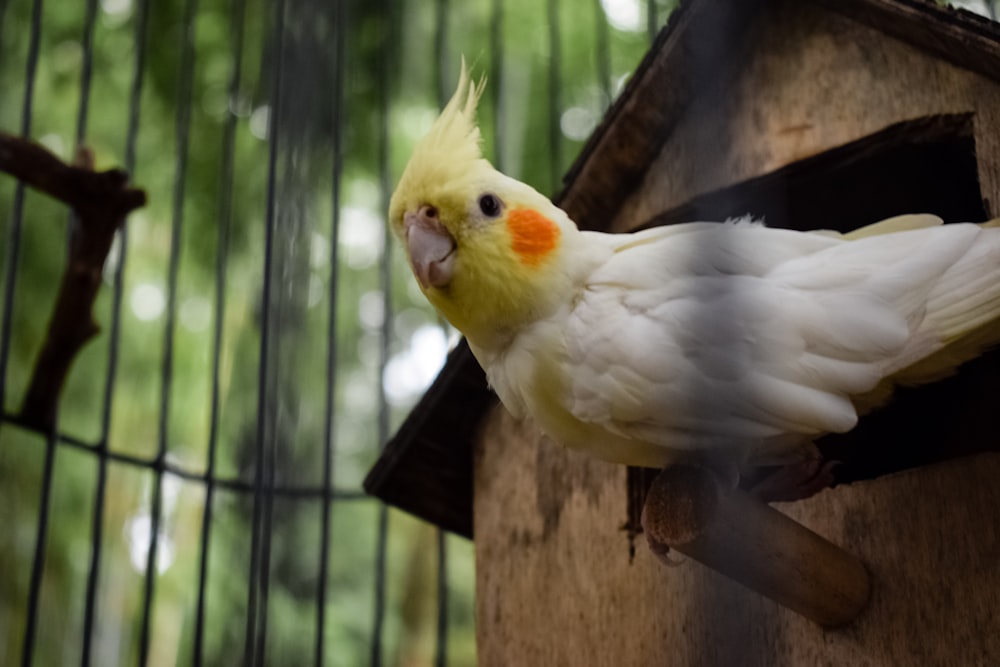
[[[506,361],[522,367],[494,366],[491,380],[604,458],[793,459],[855,425],[852,396],[997,316],[1000,233],[987,243],[976,225],[937,223],[853,238],[747,223],[585,233],[609,259],[568,312],[519,336]],[[551,377],[521,372],[540,351]],[[533,409],[545,392],[563,398]]]

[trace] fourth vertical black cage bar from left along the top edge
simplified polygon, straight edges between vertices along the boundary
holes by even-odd
[[[163,367],[160,376],[160,415],[158,445],[153,469],[153,492],[150,508],[149,551],[146,554],[146,574],[143,587],[142,628],[139,635],[139,664],[149,659],[150,626],[152,625],[153,595],[157,576],[156,559],[159,549],[160,514],[163,505],[163,470],[166,462],[170,424],[170,392],[173,381],[174,330],[177,319],[177,278],[180,269],[181,228],[184,223],[184,185],[187,179],[188,134],[191,127],[191,100],[194,86],[195,14],[197,0],[187,0],[184,7],[184,27],[181,33],[181,70],[177,91],[177,115],[174,127],[176,145],[174,166],[173,215],[170,232],[170,262],[167,270],[167,319],[163,341]]]

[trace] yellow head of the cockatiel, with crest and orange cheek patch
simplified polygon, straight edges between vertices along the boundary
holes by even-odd
[[[465,63],[458,89],[416,146],[389,206],[420,289],[479,345],[503,339],[558,303],[561,266],[578,234],[559,208],[482,157]]]

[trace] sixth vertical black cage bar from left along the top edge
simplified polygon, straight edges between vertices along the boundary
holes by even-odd
[[[274,415],[268,415],[271,345],[271,272],[274,263],[274,234],[277,202],[278,118],[281,115],[281,69],[284,54],[285,2],[275,3],[271,49],[274,58],[268,107],[267,215],[264,224],[264,280],[261,295],[260,367],[257,371],[257,470],[254,475],[253,529],[251,533],[249,600],[244,646],[244,665],[264,663],[267,633],[267,597],[270,583],[270,515],[274,499],[274,447],[268,440]],[[258,597],[260,598],[258,600]],[[259,627],[258,627],[259,622]]]

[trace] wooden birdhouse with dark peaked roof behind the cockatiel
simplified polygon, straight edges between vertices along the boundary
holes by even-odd
[[[1000,26],[921,0],[684,4],[558,199],[613,232],[979,222],[997,202]],[[1000,664],[998,406],[992,352],[818,443],[837,483],[776,508],[870,576],[832,631],[693,559],[631,554],[648,475],[515,421],[464,345],[366,488],[474,536],[482,665]]]

